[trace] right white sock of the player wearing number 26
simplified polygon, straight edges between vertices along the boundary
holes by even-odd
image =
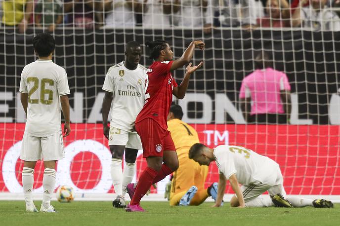
[[[55,169],[45,168],[43,171],[42,187],[42,206],[47,209],[51,204],[51,198],[55,188]]]

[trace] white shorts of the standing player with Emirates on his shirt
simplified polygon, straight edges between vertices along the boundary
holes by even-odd
[[[137,133],[127,132],[122,129],[110,127],[109,146],[121,145],[128,149],[142,150],[142,142]]]

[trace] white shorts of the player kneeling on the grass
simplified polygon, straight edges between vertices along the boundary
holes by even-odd
[[[266,185],[262,184],[261,182],[256,182],[252,185],[242,185],[241,191],[243,193],[243,198],[245,202],[249,202],[255,198],[257,198],[260,194],[268,191],[270,196],[274,196],[275,194],[282,194],[284,197],[286,196],[285,188],[283,187],[283,177],[280,168],[278,167],[277,170],[277,178],[276,181],[280,182],[278,185]],[[271,172],[275,172],[275,170]]]

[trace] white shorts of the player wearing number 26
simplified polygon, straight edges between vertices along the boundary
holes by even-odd
[[[48,137],[34,137],[26,132],[22,138],[20,159],[35,162],[60,160],[64,158],[63,135],[60,131]]]

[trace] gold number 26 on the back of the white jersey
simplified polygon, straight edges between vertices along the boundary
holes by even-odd
[[[33,82],[33,87],[28,91],[28,103],[30,104],[39,104],[39,99],[32,99],[31,96],[35,93],[39,87],[39,78],[37,77],[27,77],[27,83]],[[49,78],[42,78],[40,82],[40,103],[44,105],[50,105],[53,103],[53,91],[50,89],[46,89],[45,85],[48,83],[49,85],[54,85],[54,81]],[[45,94],[48,95],[48,99],[45,100]]]

